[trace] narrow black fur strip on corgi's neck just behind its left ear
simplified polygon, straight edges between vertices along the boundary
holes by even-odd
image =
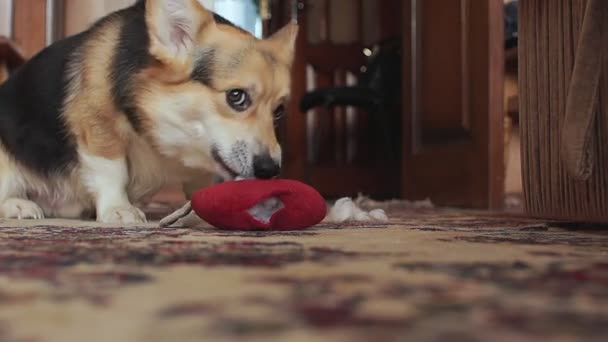
[[[133,99],[133,76],[151,61],[145,2],[138,2],[119,15],[124,16],[124,20],[110,75],[112,98],[116,108],[127,116],[135,131],[139,131],[141,120]]]

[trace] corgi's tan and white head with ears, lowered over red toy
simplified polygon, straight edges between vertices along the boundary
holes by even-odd
[[[146,22],[154,63],[138,78],[137,102],[161,153],[228,179],[278,175],[275,123],[297,26],[256,39],[197,0],[147,0]]]

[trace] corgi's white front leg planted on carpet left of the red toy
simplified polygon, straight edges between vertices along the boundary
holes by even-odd
[[[108,159],[81,153],[83,183],[93,195],[97,220],[104,223],[146,222],[144,213],[127,195],[129,174],[126,157]]]

